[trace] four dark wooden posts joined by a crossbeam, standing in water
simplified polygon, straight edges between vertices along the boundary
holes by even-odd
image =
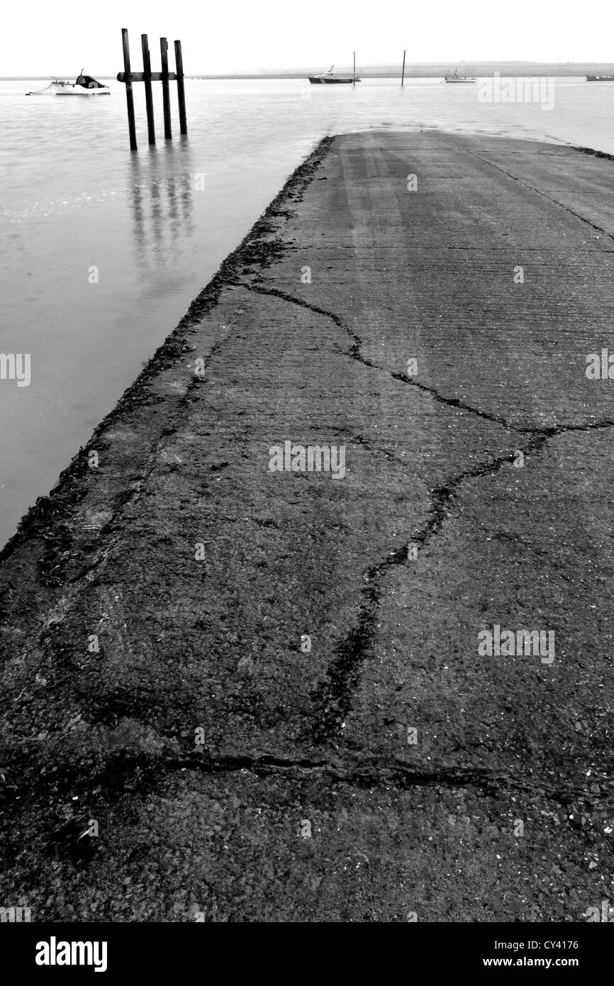
[[[145,84],[145,105],[147,107],[147,134],[150,144],[156,143],[156,126],[154,121],[154,100],[152,95],[152,82],[162,82],[162,102],[165,116],[165,139],[171,140],[171,91],[169,82],[177,84],[177,101],[179,105],[179,133],[187,133],[187,122],[185,118],[185,90],[183,88],[183,59],[181,57],[181,42],[174,42],[174,66],[175,71],[169,71],[169,42],[166,37],[160,38],[160,56],[162,61],[162,72],[152,72],[152,62],[149,52],[149,42],[147,35],[141,35],[141,48],[143,51],[143,71],[132,72],[130,69],[130,46],[128,44],[128,32],[126,28],[121,29],[121,41],[123,44],[123,72],[117,74],[117,82],[123,82],[126,87],[126,106],[128,109],[128,134],[130,137],[130,150],[136,151],[136,125],[134,121],[134,94],[132,92],[133,82]]]

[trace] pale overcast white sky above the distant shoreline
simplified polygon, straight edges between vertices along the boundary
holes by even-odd
[[[185,72],[398,61],[611,61],[612,0],[4,0],[0,75],[115,75],[128,28],[179,37]],[[172,50],[172,44],[170,45]]]

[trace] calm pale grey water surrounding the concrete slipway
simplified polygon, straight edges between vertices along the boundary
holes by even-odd
[[[0,352],[32,354],[30,387],[0,380],[0,544],[322,135],[437,127],[614,154],[614,84],[583,79],[557,80],[551,110],[439,79],[187,80],[189,137],[166,144],[155,85],[153,150],[135,86],[138,154],[118,83],[99,99],[25,96],[43,85],[0,81]]]

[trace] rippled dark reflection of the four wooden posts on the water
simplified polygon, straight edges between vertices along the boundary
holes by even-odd
[[[128,200],[136,264],[144,278],[167,266],[194,233],[196,175],[187,138],[147,147],[128,159]]]

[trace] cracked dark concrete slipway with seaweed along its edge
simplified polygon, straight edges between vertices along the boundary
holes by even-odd
[[[291,177],[0,554],[3,903],[613,898],[613,169],[371,132]],[[345,474],[270,471],[287,441]]]

